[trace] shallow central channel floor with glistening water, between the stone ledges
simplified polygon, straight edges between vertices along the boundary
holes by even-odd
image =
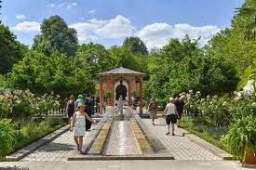
[[[103,155],[141,155],[138,141],[129,121],[115,121],[107,137]]]

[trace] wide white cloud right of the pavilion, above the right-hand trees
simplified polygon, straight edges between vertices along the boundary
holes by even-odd
[[[188,34],[192,39],[201,37],[199,44],[205,46],[210,37],[219,31],[220,29],[214,25],[195,27],[189,24],[172,26],[168,23],[153,23],[146,25],[136,35],[144,41],[148,48],[165,46],[170,38],[182,39],[185,34]]]

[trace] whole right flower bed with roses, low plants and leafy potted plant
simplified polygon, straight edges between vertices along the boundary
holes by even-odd
[[[247,160],[251,156],[255,159],[256,94],[201,98],[200,92],[190,91],[182,95],[187,97],[185,112],[193,116],[183,122],[188,131],[229,151],[241,163],[251,163]]]

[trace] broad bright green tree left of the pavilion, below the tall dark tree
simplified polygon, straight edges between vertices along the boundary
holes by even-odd
[[[31,51],[15,65],[7,82],[13,88],[29,88],[36,95],[54,91],[61,98],[94,89],[81,63],[58,52],[47,57]]]

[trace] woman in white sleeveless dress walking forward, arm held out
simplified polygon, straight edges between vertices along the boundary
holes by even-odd
[[[88,116],[88,113],[85,112],[84,104],[79,103],[78,111],[74,113],[73,127],[74,127],[74,142],[80,154],[83,153],[82,147],[83,147],[83,137],[86,135],[86,118],[91,123],[93,124],[95,123],[95,121]]]

